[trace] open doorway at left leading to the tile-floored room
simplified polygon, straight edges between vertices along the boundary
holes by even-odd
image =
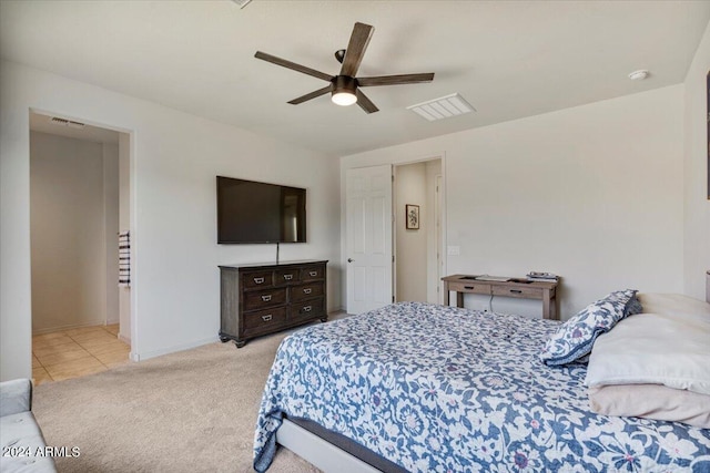
[[[32,371],[36,383],[128,362],[130,136],[30,113]]]

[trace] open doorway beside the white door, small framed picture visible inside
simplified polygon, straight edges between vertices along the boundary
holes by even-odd
[[[395,300],[440,304],[442,160],[397,165],[394,175]]]

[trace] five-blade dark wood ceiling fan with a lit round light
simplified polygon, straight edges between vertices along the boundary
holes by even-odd
[[[359,88],[369,88],[375,85],[399,85],[399,84],[416,84],[420,82],[432,82],[434,80],[434,72],[423,74],[399,74],[399,75],[377,75],[372,78],[356,78],[359,63],[363,61],[365,50],[369,43],[369,39],[373,35],[375,28],[365,23],[355,23],[353,28],[353,34],[347,44],[347,49],[338,50],[335,52],[335,59],[343,65],[341,72],[337,75],[326,74],[324,72],[316,71],[305,65],[296,64],[295,62],[287,61],[285,59],[276,58],[275,55],[267,54],[265,52],[256,51],[254,58],[261,59],[274,64],[293,69],[294,71],[303,72],[304,74],[313,75],[314,78],[328,81],[329,84],[317,91],[313,91],[297,99],[290,101],[288,103],[297,105],[306,102],[311,99],[315,99],[321,95],[325,95],[331,92],[331,100],[338,105],[352,105],[357,103],[365,112],[377,112],[375,104],[367,99],[367,96],[359,90]]]

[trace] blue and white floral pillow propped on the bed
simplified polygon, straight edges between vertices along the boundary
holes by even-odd
[[[636,292],[636,289],[618,290],[587,306],[547,340],[540,360],[548,366],[567,364],[589,354],[598,336],[625,317],[640,312]]]

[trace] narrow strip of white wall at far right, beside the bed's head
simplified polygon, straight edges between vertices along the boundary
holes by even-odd
[[[710,71],[710,24],[686,76],[684,90],[684,290],[706,298],[710,269],[710,199],[708,199],[707,84]]]

